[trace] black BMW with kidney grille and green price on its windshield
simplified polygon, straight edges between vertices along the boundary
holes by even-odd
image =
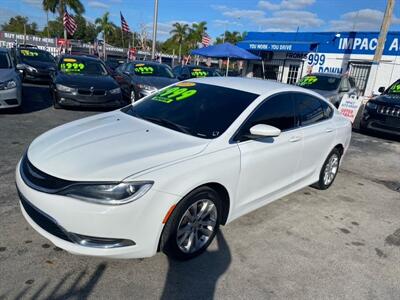
[[[121,107],[121,88],[98,58],[62,56],[50,85],[55,108]]]

